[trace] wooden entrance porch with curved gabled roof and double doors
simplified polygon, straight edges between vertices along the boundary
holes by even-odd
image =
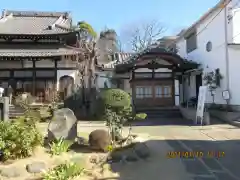
[[[118,64],[115,73],[128,74],[136,108],[173,107],[180,103],[180,84],[185,71],[198,64],[162,48],[147,49]],[[126,82],[125,82],[126,84]],[[124,90],[126,90],[124,88]]]

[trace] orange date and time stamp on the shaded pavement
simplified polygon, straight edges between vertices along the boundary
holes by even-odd
[[[221,158],[225,153],[223,151],[170,151],[167,156],[169,158]]]

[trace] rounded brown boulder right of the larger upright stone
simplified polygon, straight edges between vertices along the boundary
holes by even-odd
[[[88,143],[91,149],[105,152],[111,144],[111,137],[106,130],[97,129],[89,134]]]

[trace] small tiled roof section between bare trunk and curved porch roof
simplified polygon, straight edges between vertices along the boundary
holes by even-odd
[[[124,61],[127,61],[131,57],[132,53],[115,53],[114,59],[110,63],[103,64],[104,69],[113,69],[117,64],[122,64]]]

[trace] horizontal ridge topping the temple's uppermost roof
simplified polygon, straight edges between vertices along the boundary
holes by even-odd
[[[13,16],[25,16],[25,17],[60,17],[70,16],[70,12],[55,12],[55,11],[20,11],[20,10],[3,10],[2,16],[8,16],[12,14]]]

